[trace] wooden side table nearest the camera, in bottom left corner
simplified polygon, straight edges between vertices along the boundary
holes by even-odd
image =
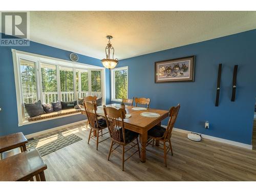
[[[0,181],[46,181],[45,169],[37,150],[19,153],[0,161]]]

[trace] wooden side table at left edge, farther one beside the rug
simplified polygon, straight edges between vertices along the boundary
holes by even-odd
[[[26,152],[28,140],[22,132],[0,137],[0,154],[19,147],[20,151]]]

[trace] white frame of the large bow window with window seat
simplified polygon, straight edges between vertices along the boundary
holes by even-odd
[[[59,83],[60,83],[59,67],[62,66],[62,67],[73,68],[73,73],[74,73],[74,99],[75,100],[77,98],[76,84],[75,84],[76,83],[76,69],[88,70],[88,73],[89,72],[91,73],[91,71],[101,71],[102,104],[106,103],[105,68],[89,65],[89,64],[86,64],[86,63],[73,62],[73,61],[64,60],[64,59],[48,57],[48,56],[28,53],[28,52],[24,52],[24,51],[18,51],[18,50],[15,50],[15,49],[12,49],[12,56],[13,56],[13,68],[14,68],[15,90],[16,90],[16,100],[17,100],[18,126],[64,117],[64,116],[58,116],[58,117],[53,117],[53,118],[39,120],[39,121],[28,121],[27,119],[23,118],[24,117],[23,108],[22,108],[22,106],[23,106],[23,98],[22,98],[23,94],[22,94],[22,90],[21,90],[22,87],[21,87],[21,81],[20,81],[21,77],[20,77],[20,71],[19,71],[20,70],[19,69],[19,59],[25,59],[25,60],[35,62],[38,100],[42,99],[41,98],[42,97],[41,63],[48,63],[48,64],[56,66],[56,69],[57,69],[57,86],[58,87],[59,87]],[[90,78],[91,77],[89,77],[89,83],[90,83]],[[90,89],[90,86],[89,86],[89,89]],[[60,99],[60,97],[61,97],[60,89],[58,89],[58,100]],[[72,116],[72,115],[77,115],[77,114],[65,115],[65,117]]]

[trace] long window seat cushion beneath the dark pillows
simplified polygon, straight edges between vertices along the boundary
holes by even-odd
[[[80,112],[81,112],[81,110],[76,110],[76,109],[60,110],[60,111],[55,111],[52,113],[45,113],[45,114],[38,115],[35,117],[29,117],[28,121],[37,121],[37,120],[41,120],[41,119],[48,119],[51,117],[58,117],[58,116],[62,116],[62,115],[69,115],[69,114],[80,113]]]

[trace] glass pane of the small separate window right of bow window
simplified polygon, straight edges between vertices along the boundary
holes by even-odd
[[[115,98],[127,98],[127,70],[115,71]]]

